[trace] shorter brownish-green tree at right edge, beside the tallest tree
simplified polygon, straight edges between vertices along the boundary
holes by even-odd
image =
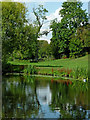
[[[81,56],[89,52],[90,47],[90,24],[80,26],[77,33],[71,36],[70,56]]]

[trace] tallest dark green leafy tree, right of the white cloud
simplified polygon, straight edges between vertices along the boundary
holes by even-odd
[[[61,22],[56,21],[51,24],[51,44],[55,53],[58,53],[56,55],[59,56],[59,58],[62,54],[69,57],[71,36],[77,34],[77,29],[88,22],[87,13],[85,13],[85,10],[82,10],[81,2],[64,2],[62,7],[59,12],[62,17]],[[55,58],[58,58],[56,55],[54,54]]]

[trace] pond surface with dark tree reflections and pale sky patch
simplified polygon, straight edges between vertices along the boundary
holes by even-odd
[[[3,76],[4,118],[89,118],[88,83]]]

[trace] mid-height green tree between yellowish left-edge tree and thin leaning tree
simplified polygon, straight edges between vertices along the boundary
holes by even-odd
[[[32,24],[25,25],[22,30],[22,42],[12,54],[16,59],[35,59],[37,50],[36,29]]]

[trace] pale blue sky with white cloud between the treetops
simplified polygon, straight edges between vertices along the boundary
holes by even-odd
[[[51,20],[57,18],[58,21],[61,20],[60,15],[58,14],[59,11],[62,9],[62,3],[63,2],[25,2],[25,5],[28,9],[28,19],[29,22],[32,22],[35,20],[35,16],[33,14],[33,8],[38,7],[39,4],[42,4],[44,8],[48,10],[48,13],[46,14],[47,20],[43,24],[43,27],[41,29],[41,32],[43,30],[49,30],[50,22]],[[82,9],[88,12],[88,2],[83,2]],[[48,43],[50,43],[50,39],[52,37],[52,32],[50,32],[47,36],[43,35],[39,38],[39,40],[47,40]]]

